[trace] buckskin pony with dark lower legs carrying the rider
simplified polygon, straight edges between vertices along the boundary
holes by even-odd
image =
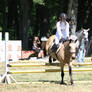
[[[55,35],[52,35],[48,41],[46,42],[46,52],[49,53],[49,50],[51,48],[51,45],[53,43],[53,40],[55,38]],[[55,58],[56,60],[60,61],[60,67],[61,67],[61,84],[64,83],[64,66],[65,64],[68,64],[69,67],[69,76],[70,76],[70,83],[73,84],[72,79],[72,67],[71,63],[72,60],[76,58],[76,41],[72,41],[71,39],[69,41],[64,42],[61,44],[61,47],[57,53],[52,52],[50,55]]]

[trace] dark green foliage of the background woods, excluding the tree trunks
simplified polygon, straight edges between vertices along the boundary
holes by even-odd
[[[24,11],[22,10],[23,3],[21,3],[21,1],[20,0],[13,0],[13,1],[0,0],[0,31],[2,31],[3,33],[5,31],[8,31],[11,39],[17,39],[18,38],[17,36],[20,36],[21,32],[19,31],[21,30],[20,28],[21,23],[23,19],[24,20],[26,19],[23,15],[26,13],[24,13]],[[50,32],[48,31],[47,33],[52,35],[53,32],[55,32],[54,30],[56,28],[56,22],[59,17],[59,14],[62,11],[67,12],[68,1],[67,2],[64,0],[26,0],[26,1],[28,3],[28,7],[27,5],[25,6],[25,11],[28,8],[27,14],[29,17],[28,21],[30,21],[30,23],[27,26],[28,28],[25,28],[25,29],[27,29],[29,37],[33,37],[35,33],[39,37],[41,37],[42,30],[45,30],[45,29],[46,30],[49,29]],[[6,6],[3,6],[3,5],[6,5]],[[40,7],[40,9],[38,9],[37,5]],[[81,27],[84,28],[84,26],[86,26],[92,29],[92,25],[91,25],[92,9],[91,8],[92,8],[92,2],[90,0],[86,0],[84,1],[84,3],[83,3],[83,0],[79,0],[78,2],[79,10],[78,10],[78,16],[77,16],[77,19],[78,19],[77,22],[78,22],[79,28]],[[8,9],[10,9],[10,12],[8,11]],[[47,10],[46,14],[44,14],[45,9]],[[41,14],[38,14],[39,12]],[[43,22],[45,19],[47,21],[46,26],[48,28],[45,28],[43,25],[44,24]],[[90,31],[89,33],[91,36],[92,32]]]

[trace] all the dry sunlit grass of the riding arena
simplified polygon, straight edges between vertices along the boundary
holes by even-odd
[[[3,68],[3,64],[1,65]],[[73,68],[91,67],[92,66],[81,66]],[[27,69],[30,70],[35,68],[13,68],[13,70]],[[19,84],[13,83],[7,85],[5,83],[2,83],[0,84],[0,92],[92,92],[92,72],[73,72],[74,86],[69,85],[70,78],[68,72],[65,72],[64,77],[67,85],[60,85],[60,72],[38,74],[12,74],[12,76],[19,82]]]

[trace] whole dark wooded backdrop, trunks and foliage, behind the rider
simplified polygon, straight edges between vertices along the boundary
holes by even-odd
[[[22,40],[23,49],[28,49],[28,39],[33,34],[42,37],[56,32],[61,12],[71,17],[73,33],[81,28],[92,30],[91,0],[0,0],[3,38],[8,31],[10,39]],[[91,36],[92,31],[89,33]]]

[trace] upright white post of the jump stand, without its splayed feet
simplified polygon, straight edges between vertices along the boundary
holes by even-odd
[[[9,33],[6,32],[5,33],[5,62],[6,62],[6,65],[5,65],[5,72],[7,74],[8,72],[8,40],[9,40]]]

